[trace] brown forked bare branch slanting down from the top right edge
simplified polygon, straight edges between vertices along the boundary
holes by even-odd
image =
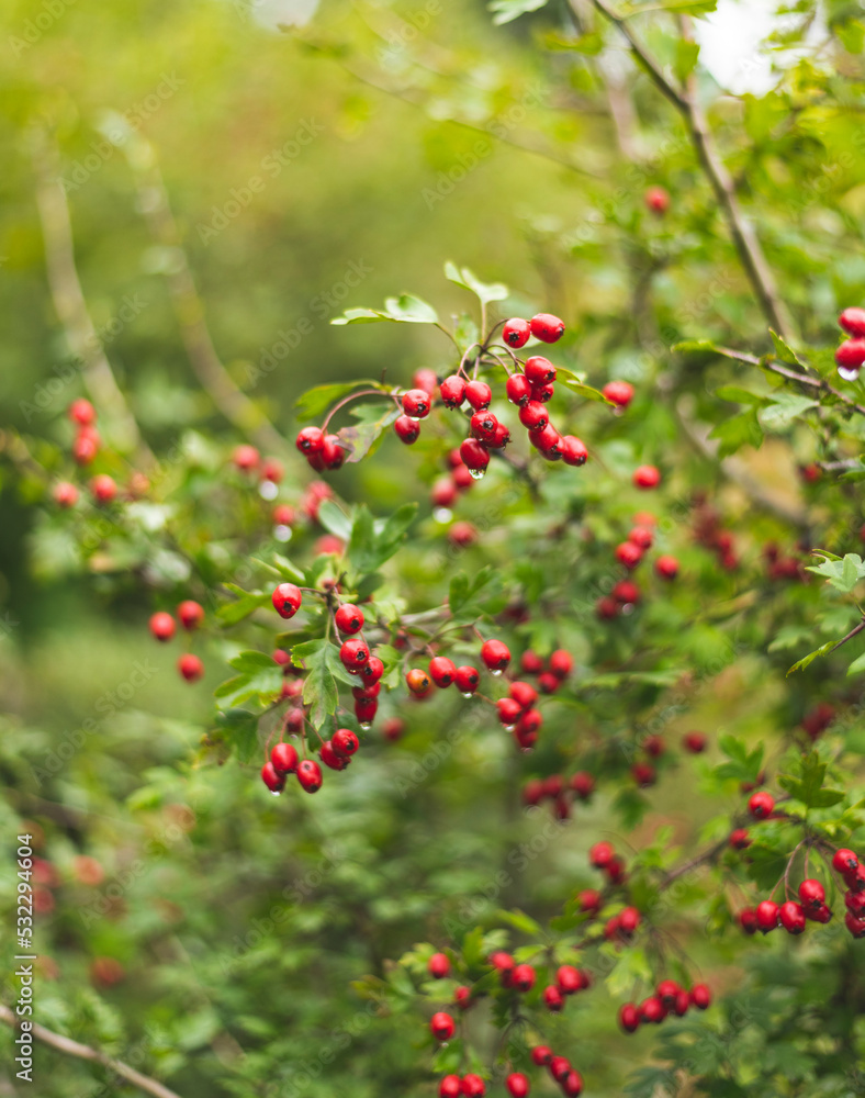
[[[572,4],[574,0],[571,0]],[[697,154],[697,159],[715,191],[718,205],[727,219],[735,250],[760,301],[761,309],[769,324],[785,339],[789,340],[791,338],[791,322],[780,301],[777,287],[775,285],[775,278],[763,254],[756,233],[739,205],[732,176],[727,170],[715,147],[703,108],[698,101],[694,75],[692,74],[688,77],[684,89],[676,88],[667,80],[654,58],[645,51],[640,40],[631,30],[630,23],[619,18],[610,9],[606,0],[593,0],[593,3],[625,35],[631,53],[640,61],[640,65],[647,71],[652,82],[682,114]],[[686,21],[683,22],[686,23]]]

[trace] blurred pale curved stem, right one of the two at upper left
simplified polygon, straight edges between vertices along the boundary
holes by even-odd
[[[182,245],[180,231],[168,199],[162,175],[149,145],[131,135],[123,145],[136,172],[138,200],[154,238],[171,249],[173,265],[167,274],[183,346],[195,377],[216,408],[239,432],[263,450],[284,453],[288,444],[265,413],[246,395],[223,366],[204,320],[204,303]],[[144,155],[144,153],[147,155]],[[147,165],[147,167],[143,167]]]

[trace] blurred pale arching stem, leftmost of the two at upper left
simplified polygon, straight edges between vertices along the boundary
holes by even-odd
[[[69,203],[60,182],[59,152],[43,130],[33,132],[32,157],[48,285],[69,349],[83,363],[81,380],[98,411],[115,427],[126,448],[137,451],[139,463],[153,467],[156,459],[142,439],[87,309],[75,262]]]

